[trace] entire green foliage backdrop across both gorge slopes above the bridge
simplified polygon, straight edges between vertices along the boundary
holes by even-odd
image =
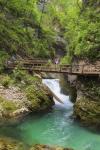
[[[52,0],[43,14],[38,4],[0,0],[0,58],[2,53],[54,57],[58,37],[66,40],[68,59],[100,58],[100,0]]]

